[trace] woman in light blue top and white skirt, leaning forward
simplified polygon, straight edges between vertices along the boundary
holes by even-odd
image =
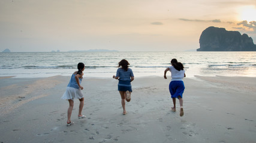
[[[61,97],[63,100],[68,100],[68,102],[70,103],[70,106],[68,107],[67,126],[73,125],[74,123],[74,122],[71,122],[71,119],[70,119],[72,110],[74,107],[74,99],[79,99],[80,101],[78,118],[83,119],[86,117],[85,115],[82,115],[84,98],[81,92],[81,90],[83,90],[83,86],[80,85],[83,79],[83,70],[85,70],[85,64],[78,63],[77,69],[78,71],[75,71],[72,74],[70,82],[68,83],[68,86],[67,86],[67,90]]]

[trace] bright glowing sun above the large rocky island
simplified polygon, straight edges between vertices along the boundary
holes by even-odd
[[[256,21],[256,8],[252,5],[242,7],[239,13],[240,20]]]

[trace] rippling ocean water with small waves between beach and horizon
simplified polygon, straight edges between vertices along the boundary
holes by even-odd
[[[135,77],[163,76],[172,58],[183,63],[187,77],[256,77],[256,52],[10,52],[0,53],[0,76],[70,76],[83,62],[86,77],[112,77],[124,58]]]

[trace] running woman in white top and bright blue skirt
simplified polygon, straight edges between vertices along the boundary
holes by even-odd
[[[169,85],[169,91],[171,94],[171,98],[173,99],[173,107],[171,107],[171,110],[176,111],[176,98],[178,98],[180,104],[180,116],[183,116],[184,111],[182,94],[185,89],[183,77],[186,77],[183,64],[177,62],[177,60],[173,58],[171,60],[171,66],[167,67],[167,69],[165,69],[164,71],[164,79],[167,79],[167,71],[171,71],[171,82]]]

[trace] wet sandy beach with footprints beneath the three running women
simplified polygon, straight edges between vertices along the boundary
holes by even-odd
[[[256,142],[256,78],[185,78],[184,116],[170,110],[170,77],[135,77],[127,114],[122,114],[118,80],[82,82],[67,127],[68,101],[61,100],[70,77],[0,78],[0,142]]]

